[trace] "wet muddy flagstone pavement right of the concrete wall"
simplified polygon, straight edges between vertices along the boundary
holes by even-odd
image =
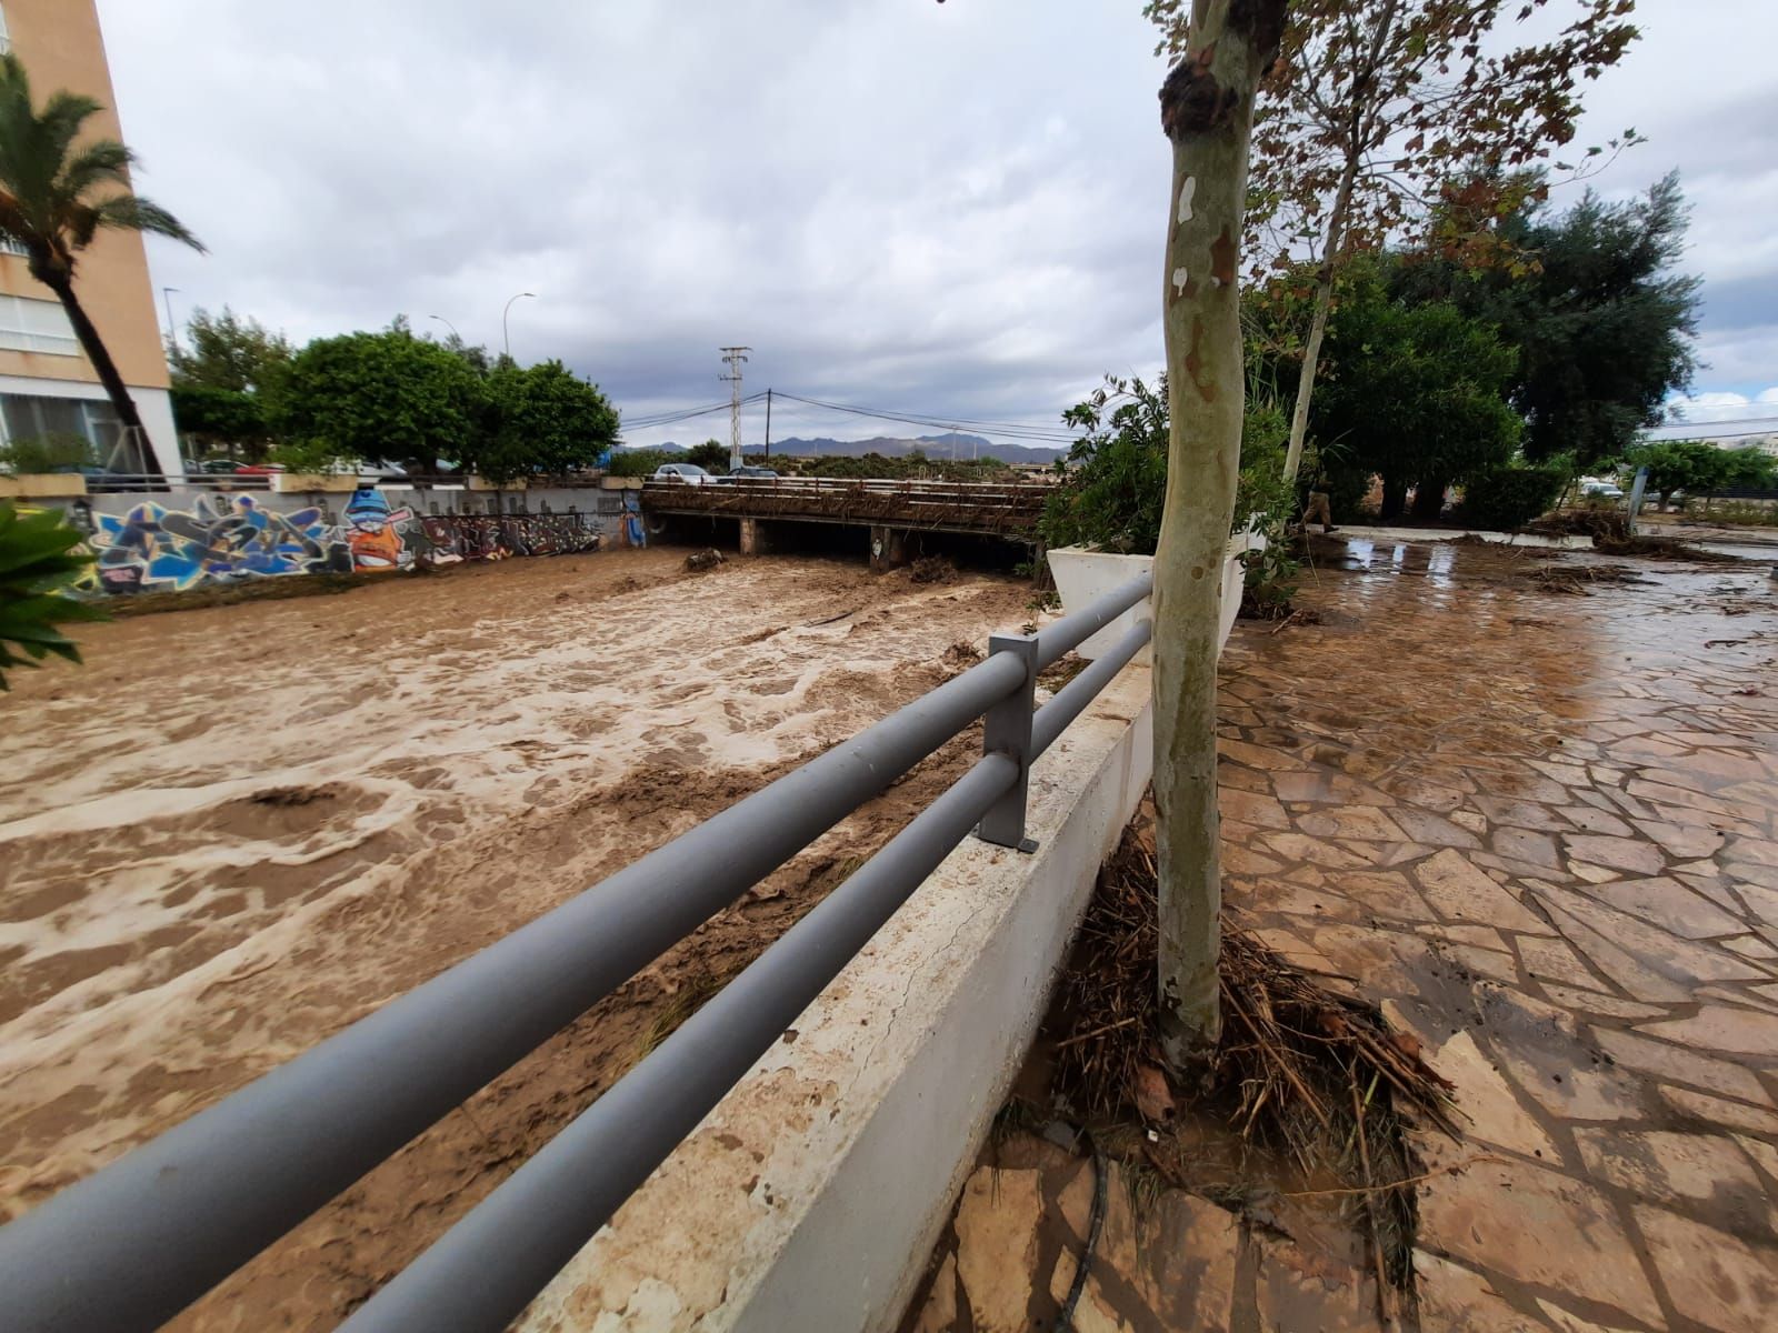
[[[1321,624],[1243,622],[1223,659],[1223,869],[1458,1088],[1465,1139],[1414,1136],[1403,1326],[1778,1328],[1778,585],[1636,562],[1565,597],[1526,555],[1401,542],[1321,563]],[[909,1328],[1053,1319],[1092,1166],[1029,1136],[1001,1166]],[[1077,1329],[1378,1326],[1350,1246],[1133,1184]]]

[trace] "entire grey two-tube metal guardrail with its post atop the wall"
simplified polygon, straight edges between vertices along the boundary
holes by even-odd
[[[996,635],[962,675],[0,1228],[0,1322],[156,1328],[987,716],[962,778],[341,1326],[507,1328],[973,826],[1029,850],[1031,761],[1149,622],[1033,713],[1037,674],[1150,590]]]

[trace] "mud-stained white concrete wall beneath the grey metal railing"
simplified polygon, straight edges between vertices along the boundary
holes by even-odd
[[[532,1303],[525,1333],[893,1329],[1152,770],[1129,666]]]

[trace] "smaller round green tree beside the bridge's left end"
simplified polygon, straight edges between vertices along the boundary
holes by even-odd
[[[617,443],[617,409],[560,361],[519,370],[501,361],[487,377],[491,428],[461,462],[491,482],[581,471]]]

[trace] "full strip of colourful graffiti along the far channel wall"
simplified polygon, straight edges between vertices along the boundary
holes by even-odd
[[[416,562],[567,555],[599,546],[597,530],[580,514],[421,517],[391,507],[375,487],[359,487],[338,521],[318,507],[281,514],[242,494],[197,496],[190,505],[176,510],[144,501],[123,514],[92,514],[98,587],[112,594],[176,592],[279,574],[393,572]]]

